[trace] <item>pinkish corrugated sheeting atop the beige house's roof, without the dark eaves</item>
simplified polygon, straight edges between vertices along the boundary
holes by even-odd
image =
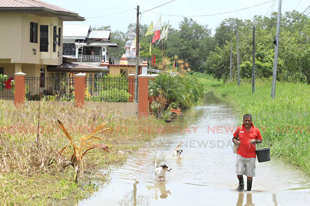
[[[49,4],[47,2],[42,2],[40,0],[0,0],[0,8],[1,7],[26,7],[26,8],[32,8],[32,7],[44,7],[47,9],[51,9],[54,11],[60,11],[60,12],[68,12],[72,14],[78,14],[72,11],[69,11],[67,9],[61,8],[59,6],[55,6],[53,4]]]

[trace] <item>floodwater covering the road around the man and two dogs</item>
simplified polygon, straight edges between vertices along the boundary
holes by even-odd
[[[201,106],[167,123],[172,125],[179,133],[170,128],[143,145],[112,170],[108,186],[78,205],[310,205],[309,176],[281,160],[256,160],[252,191],[235,190],[236,154],[229,126],[235,127],[237,120],[226,99],[207,95]],[[182,158],[173,158],[179,141]],[[166,181],[155,179],[155,156],[164,157],[161,164],[172,168]]]

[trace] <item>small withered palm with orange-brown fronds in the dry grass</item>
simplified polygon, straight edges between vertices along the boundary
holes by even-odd
[[[106,130],[111,130],[111,128],[105,128],[102,129],[107,122],[100,124],[97,128],[95,128],[94,131],[92,131],[89,135],[85,135],[83,137],[80,137],[80,142],[78,145],[78,142],[73,142],[69,132],[64,128],[64,125],[57,120],[59,124],[57,126],[64,132],[64,135],[70,140],[69,144],[64,146],[58,154],[61,154],[62,152],[65,151],[62,155],[70,154],[69,158],[63,162],[62,167],[65,168],[69,165],[73,166],[74,168],[74,179],[77,182],[78,181],[78,170],[79,166],[81,164],[82,170],[83,170],[83,157],[85,154],[91,153],[88,152],[91,149],[103,149],[106,152],[109,152],[108,146],[105,144],[99,144],[96,142],[97,140],[103,140],[100,137],[96,137],[95,135],[98,134],[99,132],[103,132]]]

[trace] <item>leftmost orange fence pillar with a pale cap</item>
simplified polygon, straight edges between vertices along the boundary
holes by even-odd
[[[15,74],[15,107],[24,104],[26,100],[25,75],[26,74],[22,72],[18,72]]]

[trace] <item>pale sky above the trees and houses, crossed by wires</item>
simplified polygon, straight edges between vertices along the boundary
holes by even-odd
[[[171,0],[43,0],[45,2],[54,4],[56,6],[60,6],[62,8],[68,9],[70,11],[78,13],[80,16],[85,17],[86,21],[83,22],[64,22],[65,24],[73,23],[73,24],[91,24],[91,27],[100,27],[100,26],[111,26],[111,30],[120,30],[125,32],[130,23],[136,23],[136,6],[139,5],[140,12],[146,11],[148,9],[152,9],[154,7],[160,6]],[[162,14],[170,14],[170,15],[185,15],[185,16],[193,16],[193,15],[210,15],[223,13],[228,11],[234,11],[238,9],[243,9],[246,7],[258,5],[264,2],[268,2],[270,0],[175,0],[166,5],[160,6],[151,11],[162,13]],[[276,1],[274,3],[274,1]],[[197,23],[208,25],[208,28],[212,30],[214,34],[215,28],[219,25],[219,23],[229,17],[237,17],[238,19],[252,19],[254,15],[266,15],[268,9],[271,7],[271,10],[278,10],[278,0],[274,0],[259,6],[255,6],[253,8],[235,11],[228,14],[220,14],[213,16],[203,16],[203,17],[191,17]],[[272,6],[273,4],[273,6]],[[302,13],[308,6],[310,5],[309,0],[282,0],[282,8],[281,13],[283,14],[286,11],[292,11],[296,9]],[[130,10],[130,11],[128,11]],[[127,11],[117,15],[111,15],[119,12]],[[140,24],[149,25],[152,20],[153,24],[160,17],[160,14],[153,13],[151,11],[145,12],[142,14]],[[270,14],[270,12],[269,12]],[[97,17],[104,16],[98,18],[89,18],[89,17]],[[269,16],[269,15],[267,15]],[[162,24],[164,22],[168,22],[169,24],[175,28],[179,28],[179,22],[183,20],[184,17],[176,17],[176,16],[167,16],[161,15]]]

